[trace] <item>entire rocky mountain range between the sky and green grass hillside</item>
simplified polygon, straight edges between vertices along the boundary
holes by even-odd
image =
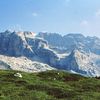
[[[0,69],[40,72],[66,70],[100,76],[100,39],[82,34],[0,33]]]

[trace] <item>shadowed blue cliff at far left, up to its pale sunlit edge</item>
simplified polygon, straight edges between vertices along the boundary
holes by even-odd
[[[27,42],[27,32],[0,33],[0,53],[8,56],[31,56],[33,52]]]

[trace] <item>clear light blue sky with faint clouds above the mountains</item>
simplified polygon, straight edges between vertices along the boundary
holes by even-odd
[[[100,37],[100,0],[0,0],[0,31]]]

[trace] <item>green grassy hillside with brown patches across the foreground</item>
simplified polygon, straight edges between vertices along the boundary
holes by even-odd
[[[0,70],[0,100],[100,100],[100,80],[63,71]]]

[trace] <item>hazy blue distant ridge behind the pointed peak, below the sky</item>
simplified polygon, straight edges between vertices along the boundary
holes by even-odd
[[[82,34],[67,34],[61,36],[57,33],[40,32],[37,37],[48,41],[50,48],[60,53],[71,52],[74,49],[100,55],[100,39],[97,37],[85,37]]]

